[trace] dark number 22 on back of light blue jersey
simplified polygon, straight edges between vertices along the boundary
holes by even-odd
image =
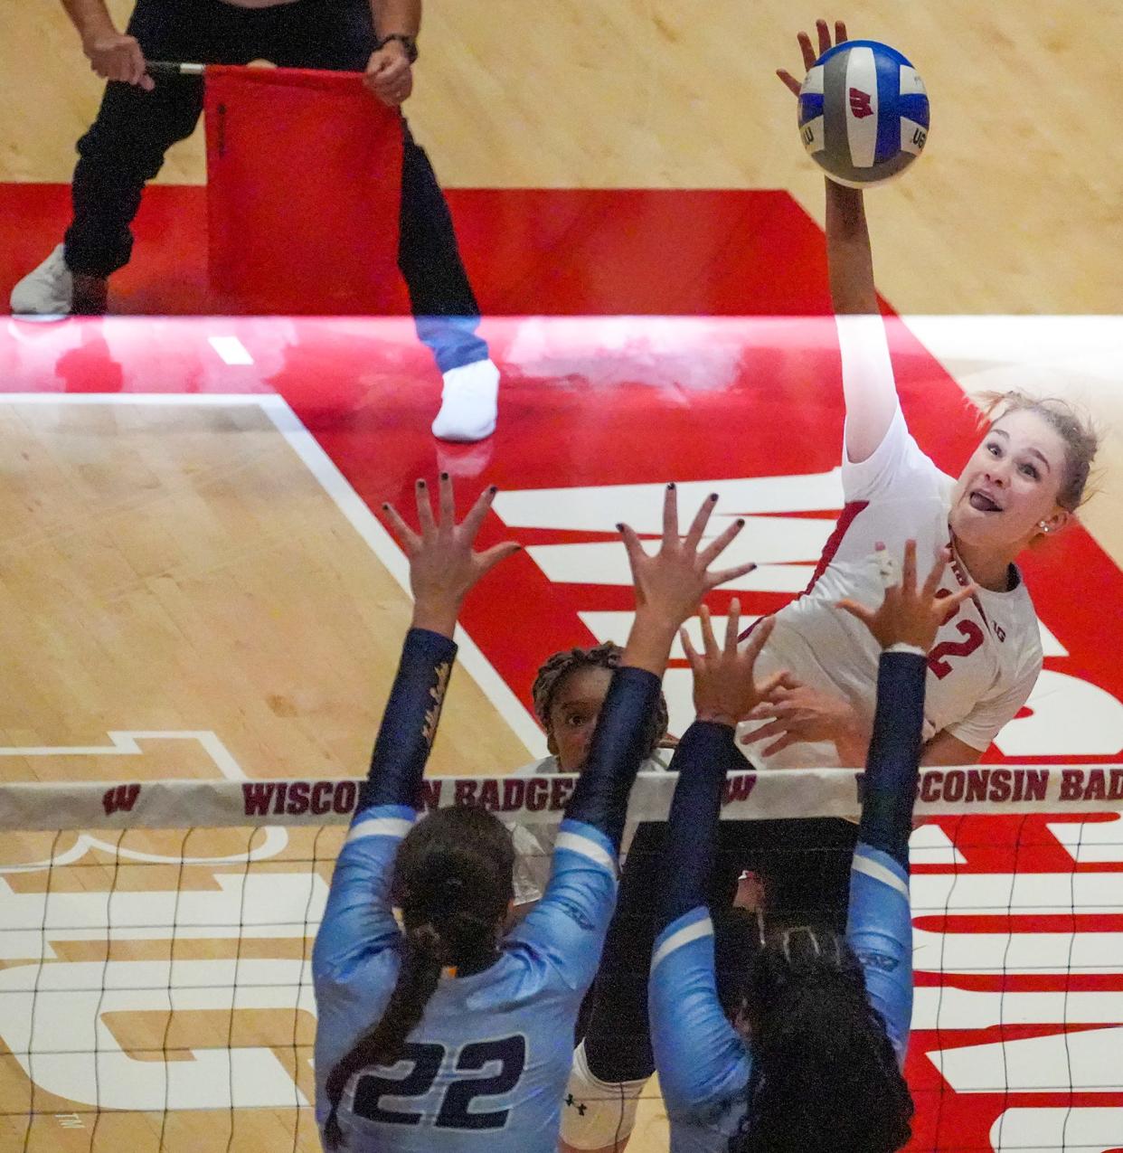
[[[385,1109],[384,1097],[399,1100],[424,1097],[432,1088],[440,1065],[445,1060],[443,1045],[407,1045],[401,1061],[413,1065],[405,1077],[379,1077],[367,1073],[355,1085],[354,1111],[368,1121],[379,1121],[391,1125],[421,1124],[424,1114]],[[475,1041],[466,1045],[457,1054],[458,1072],[478,1072],[489,1064],[498,1064],[498,1072],[490,1077],[468,1077],[454,1080],[444,1093],[437,1120],[437,1129],[503,1129],[510,1109],[490,1113],[472,1113],[469,1106],[477,1097],[510,1093],[519,1084],[527,1061],[527,1039],[520,1033],[497,1041]]]

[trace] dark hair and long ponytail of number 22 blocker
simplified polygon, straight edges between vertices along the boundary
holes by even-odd
[[[443,808],[409,830],[394,859],[391,894],[405,935],[400,967],[382,1017],[327,1075],[329,1150],[346,1144],[339,1105],[352,1077],[392,1065],[417,1027],[445,965],[484,967],[513,895],[514,850],[503,823],[481,808]]]

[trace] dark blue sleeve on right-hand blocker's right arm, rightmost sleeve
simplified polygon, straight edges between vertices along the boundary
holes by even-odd
[[[877,709],[866,759],[858,837],[909,868],[912,806],[920,774],[927,660],[918,653],[882,653]]]

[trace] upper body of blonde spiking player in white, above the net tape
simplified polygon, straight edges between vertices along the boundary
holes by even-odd
[[[842,22],[836,39],[846,39]],[[830,47],[819,21],[820,54]],[[799,33],[804,63],[816,54]],[[799,93],[787,71],[781,78]],[[941,628],[928,656],[925,764],[978,761],[1025,703],[1041,670],[1037,612],[1015,564],[1068,525],[1084,499],[1096,437],[1061,400],[1009,392],[992,398],[993,422],[958,478],[942,473],[905,425],[874,289],[862,194],[827,181],[827,249],[842,349],[846,427],[845,507],[808,589],[776,613],[764,669],[800,683],[779,688],[746,733],[760,768],[859,766],[873,721],[877,651],[869,633],[831,605],[868,600],[881,549],[915,540],[930,560],[950,547],[942,593],[978,591]],[[881,547],[881,548],[879,548]]]

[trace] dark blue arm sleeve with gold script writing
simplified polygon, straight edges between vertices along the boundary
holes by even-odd
[[[421,807],[421,778],[429,760],[457,646],[440,633],[410,628],[383,714],[359,807]]]

